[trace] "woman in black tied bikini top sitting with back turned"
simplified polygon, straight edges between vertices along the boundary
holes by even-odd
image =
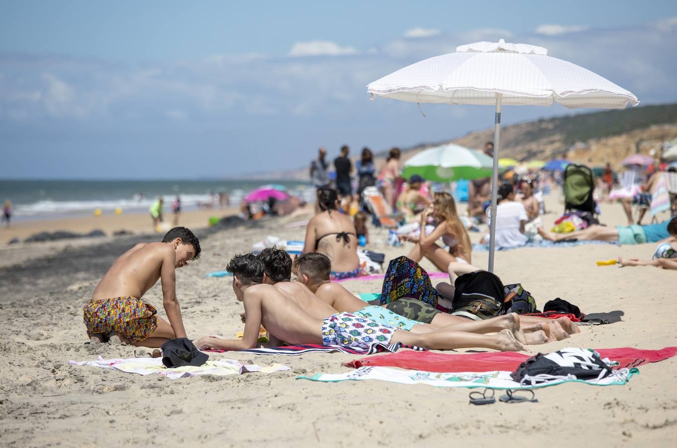
[[[359,266],[357,235],[351,219],[339,213],[336,190],[318,188],[320,213],[309,222],[305,232],[303,253],[319,252],[332,262],[332,280],[366,275]]]

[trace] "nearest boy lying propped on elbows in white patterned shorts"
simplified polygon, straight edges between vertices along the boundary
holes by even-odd
[[[288,344],[325,344],[367,349],[374,343],[389,345],[401,342],[433,350],[469,347],[525,350],[508,329],[495,335],[447,329],[410,333],[348,312],[337,312],[319,319],[313,316],[321,315],[326,304],[318,298],[310,300],[310,296],[298,300],[283,289],[263,283],[263,263],[253,253],[234,256],[227,270],[233,272],[233,291],[244,304],[244,336],[242,340],[205,336],[195,341],[198,348],[254,348],[259,338],[259,327],[263,325],[270,335]]]

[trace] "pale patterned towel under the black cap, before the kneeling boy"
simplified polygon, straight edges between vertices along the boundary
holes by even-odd
[[[162,365],[162,358],[129,358],[129,359],[103,359],[96,361],[68,361],[70,365],[89,365],[101,369],[113,369],[125,373],[137,373],[138,375],[162,375],[175,380],[176,378],[190,378],[195,375],[242,375],[242,373],[260,372],[272,373],[289,370],[282,364],[260,366],[257,364],[242,364],[235,359],[219,359],[207,361],[198,367],[185,365],[183,367],[167,368]]]

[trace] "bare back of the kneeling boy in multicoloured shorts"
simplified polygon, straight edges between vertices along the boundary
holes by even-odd
[[[121,296],[141,298],[160,278],[166,252],[165,243],[140,243],[118,257],[101,279],[92,300]]]

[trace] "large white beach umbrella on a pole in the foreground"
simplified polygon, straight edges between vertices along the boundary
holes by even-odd
[[[639,103],[630,91],[547,53],[543,47],[505,43],[503,39],[471,43],[457,47],[456,53],[401,68],[367,86],[372,98],[496,107],[489,271],[494,270],[501,106],[559,102],[569,108],[624,108],[628,103]]]

